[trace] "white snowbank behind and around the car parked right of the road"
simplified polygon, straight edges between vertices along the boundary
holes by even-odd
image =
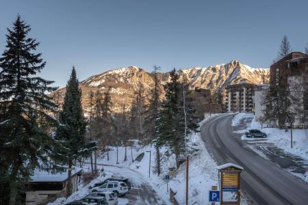
[[[284,129],[261,128],[261,124],[255,120],[255,116],[252,113],[238,113],[234,116],[232,120],[232,126],[238,126],[241,120],[245,118],[251,118],[251,123],[246,125],[246,129],[242,131],[236,131],[237,133],[245,133],[248,129],[258,129],[268,135],[266,141],[268,143],[273,143],[274,146],[283,149],[285,152],[290,152],[296,156],[300,156],[303,159],[308,160],[308,130],[307,129],[293,129],[293,148],[291,148],[291,131],[290,129],[285,132]],[[242,139],[247,140],[247,137],[242,137]],[[251,140],[251,139],[248,139]],[[256,140],[259,140],[256,138]]]

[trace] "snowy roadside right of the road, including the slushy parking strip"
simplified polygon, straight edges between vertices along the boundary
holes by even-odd
[[[233,131],[242,135],[240,139],[259,156],[277,163],[282,169],[308,182],[308,130],[293,130],[293,148],[291,148],[290,130],[270,128],[255,120],[252,113],[238,113],[231,125],[240,130]],[[249,129],[257,129],[267,134],[264,138],[249,138],[244,133]]]

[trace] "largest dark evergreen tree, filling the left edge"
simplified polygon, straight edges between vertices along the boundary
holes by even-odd
[[[0,184],[8,185],[1,194],[10,196],[8,202],[1,195],[1,201],[11,205],[16,188],[29,180],[34,169],[50,168],[53,139],[48,131],[56,125],[47,114],[55,111],[55,104],[46,94],[56,88],[50,86],[53,81],[36,76],[46,62],[41,53],[34,53],[39,43],[27,37],[30,30],[18,15],[0,58]]]

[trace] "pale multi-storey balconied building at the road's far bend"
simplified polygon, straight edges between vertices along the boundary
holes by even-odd
[[[254,90],[256,85],[249,83],[228,85],[227,105],[229,112],[253,112]]]

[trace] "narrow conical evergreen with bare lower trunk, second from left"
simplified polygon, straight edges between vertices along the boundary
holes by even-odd
[[[73,67],[66,85],[63,109],[60,112],[60,126],[57,128],[56,139],[62,141],[64,148],[59,150],[62,161],[68,165],[68,184],[66,196],[72,192],[71,174],[73,160],[92,152],[95,143],[86,143],[86,118],[81,107],[81,90]]]

